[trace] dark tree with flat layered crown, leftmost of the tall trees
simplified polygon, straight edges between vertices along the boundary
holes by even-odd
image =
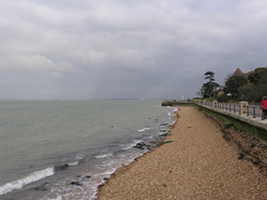
[[[214,72],[207,71],[204,75],[206,75],[205,79],[208,79],[209,81],[202,84],[202,95],[204,97],[211,97],[213,96],[214,90],[220,85],[214,82]]]

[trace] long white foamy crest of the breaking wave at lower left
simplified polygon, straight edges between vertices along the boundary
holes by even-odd
[[[54,167],[48,167],[46,169],[34,172],[26,177],[23,177],[21,179],[18,179],[18,180],[8,183],[3,186],[0,186],[0,196],[8,193],[8,192],[11,192],[15,189],[21,189],[31,183],[40,180],[40,179],[46,178],[48,176],[51,176],[54,174],[55,174]]]

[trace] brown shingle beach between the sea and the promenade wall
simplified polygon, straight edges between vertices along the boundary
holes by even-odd
[[[172,142],[119,168],[98,200],[267,199],[263,168],[240,158],[213,119],[194,107],[178,115],[165,139]]]

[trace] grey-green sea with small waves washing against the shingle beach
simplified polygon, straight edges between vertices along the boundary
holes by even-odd
[[[1,101],[0,200],[93,200],[117,168],[162,140],[159,99]]]

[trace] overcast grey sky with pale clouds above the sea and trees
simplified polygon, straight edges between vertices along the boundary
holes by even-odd
[[[267,66],[266,0],[0,0],[0,99],[190,98]]]

